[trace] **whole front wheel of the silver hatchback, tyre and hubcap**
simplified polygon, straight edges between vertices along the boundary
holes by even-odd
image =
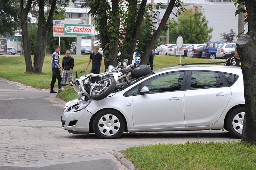
[[[101,110],[92,122],[93,131],[101,139],[115,139],[124,132],[123,116],[116,110]]]

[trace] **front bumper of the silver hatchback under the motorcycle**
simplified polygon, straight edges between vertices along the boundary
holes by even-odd
[[[61,115],[61,127],[70,133],[87,134],[92,113],[83,109],[78,112],[63,112]]]

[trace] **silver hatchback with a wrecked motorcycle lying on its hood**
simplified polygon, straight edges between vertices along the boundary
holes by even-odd
[[[61,115],[75,134],[117,138],[126,132],[226,129],[242,136],[240,67],[180,66],[156,70],[103,100],[73,100]]]

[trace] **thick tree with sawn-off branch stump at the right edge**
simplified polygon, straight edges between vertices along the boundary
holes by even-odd
[[[236,14],[248,13],[248,32],[236,41],[244,78],[245,114],[241,142],[256,144],[256,0],[237,0],[235,5],[237,4]]]

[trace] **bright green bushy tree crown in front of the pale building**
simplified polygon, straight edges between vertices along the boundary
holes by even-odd
[[[213,28],[209,28],[202,9],[197,9],[195,13],[189,9],[184,11],[177,21],[172,19],[169,29],[169,41],[175,43],[178,35],[181,35],[184,43],[202,43],[212,38],[212,31]]]

